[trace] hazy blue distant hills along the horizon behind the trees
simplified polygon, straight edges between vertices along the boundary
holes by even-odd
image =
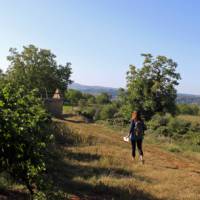
[[[89,85],[82,85],[79,83],[72,83],[69,86],[69,88],[79,90],[83,93],[93,94],[93,95],[97,95],[102,92],[107,92],[110,95],[112,95],[113,98],[117,96],[117,91],[118,91],[118,88],[103,87],[103,86],[89,86]],[[177,96],[177,103],[200,104],[200,95],[179,93]]]

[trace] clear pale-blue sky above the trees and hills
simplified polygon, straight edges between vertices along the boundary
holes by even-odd
[[[10,47],[51,49],[76,82],[124,87],[141,53],[178,63],[178,91],[200,94],[198,0],[0,0],[0,68]]]

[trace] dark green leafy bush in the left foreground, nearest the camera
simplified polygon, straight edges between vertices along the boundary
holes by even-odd
[[[23,182],[30,192],[45,170],[44,152],[51,122],[37,92],[10,85],[0,89],[0,170]]]

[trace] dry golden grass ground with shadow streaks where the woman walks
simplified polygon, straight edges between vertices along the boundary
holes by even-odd
[[[182,152],[170,139],[146,134],[142,165],[138,154],[132,161],[130,143],[122,140],[127,128],[85,123],[80,116],[69,115],[70,107],[66,110],[67,118],[56,120],[56,144],[47,157],[46,191],[42,192],[49,199],[200,197],[199,154]]]

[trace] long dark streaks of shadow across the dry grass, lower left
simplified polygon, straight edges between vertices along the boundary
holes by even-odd
[[[116,178],[130,178],[144,181],[144,177],[134,175],[128,170],[117,167],[104,168],[88,165],[85,166],[79,165],[77,162],[74,164],[68,160],[73,159],[75,161],[89,162],[91,160],[99,160],[99,155],[74,152],[62,153],[62,148],[60,149],[60,147],[57,147],[54,149],[56,149],[56,151],[48,156],[47,173],[45,174],[45,182],[53,183],[53,188],[51,189],[52,191],[57,191],[59,189],[64,193],[77,195],[80,199],[157,199],[154,196],[134,187],[131,187],[131,189],[120,187],[120,185],[114,187],[106,185],[100,181],[101,177],[114,177],[115,180]],[[89,182],[91,180],[93,181]]]

